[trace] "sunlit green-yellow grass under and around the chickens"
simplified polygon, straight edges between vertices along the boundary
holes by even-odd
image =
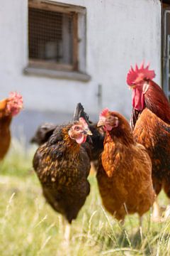
[[[137,215],[127,216],[122,227],[101,206],[95,175],[91,193],[64,242],[62,217],[42,197],[32,170],[35,148],[24,150],[13,142],[0,166],[0,255],[169,255],[170,220],[152,223],[144,217],[142,238]],[[164,193],[159,197],[167,202]]]

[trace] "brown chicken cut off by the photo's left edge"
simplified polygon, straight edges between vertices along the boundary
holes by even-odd
[[[0,160],[4,159],[11,143],[11,120],[22,108],[23,97],[16,92],[0,101]]]

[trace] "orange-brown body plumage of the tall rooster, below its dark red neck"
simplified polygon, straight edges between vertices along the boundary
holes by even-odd
[[[164,188],[170,198],[170,124],[149,109],[140,114],[133,131],[137,142],[145,145],[152,159],[152,180],[157,195]]]

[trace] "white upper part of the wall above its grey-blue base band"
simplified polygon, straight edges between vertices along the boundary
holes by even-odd
[[[58,0],[87,9],[86,71],[90,82],[23,75],[28,63],[27,1],[1,1],[0,91],[21,92],[28,110],[73,112],[82,102],[98,112],[98,84],[103,106],[130,115],[131,91],[125,83],[130,65],[149,61],[161,76],[161,5],[159,0]]]

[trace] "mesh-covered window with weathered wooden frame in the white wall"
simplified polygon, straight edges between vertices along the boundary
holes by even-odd
[[[38,68],[47,74],[47,70],[56,70],[57,76],[67,76],[69,72],[69,78],[70,72],[85,75],[86,9],[55,1],[29,0],[28,56],[28,67],[34,71]],[[89,80],[89,76],[83,80]]]

